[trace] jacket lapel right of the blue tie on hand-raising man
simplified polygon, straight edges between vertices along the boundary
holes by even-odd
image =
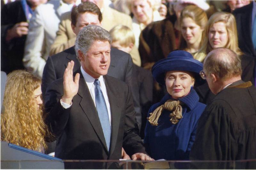
[[[111,144],[110,144],[110,154],[114,152],[116,146],[116,140],[119,130],[120,117],[121,117],[121,108],[119,104],[118,94],[116,93],[115,84],[109,81],[108,76],[104,76],[105,84],[108,92],[108,99],[111,110]]]

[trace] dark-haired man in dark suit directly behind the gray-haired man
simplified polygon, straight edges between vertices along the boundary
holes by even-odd
[[[71,12],[71,27],[77,35],[79,31],[89,25],[101,26],[102,14],[99,7],[92,2],[84,2],[74,7]],[[130,54],[116,48],[111,48],[111,63],[108,75],[128,83],[132,87],[133,103],[135,111],[140,114],[139,88],[136,80],[132,76],[132,58]],[[42,92],[45,94],[46,88],[55,80],[62,78],[68,62],[75,62],[74,71],[80,67],[76,58],[74,46],[64,50],[47,59],[42,78]]]

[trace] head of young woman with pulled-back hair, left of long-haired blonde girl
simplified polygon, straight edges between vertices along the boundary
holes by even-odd
[[[207,24],[207,15],[196,5],[186,6],[180,15],[180,31],[182,34],[180,50],[196,53],[205,39],[204,28]]]

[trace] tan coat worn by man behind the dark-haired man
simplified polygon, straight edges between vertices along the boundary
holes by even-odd
[[[82,2],[85,1],[86,0],[82,0]],[[101,26],[104,29],[109,31],[112,27],[116,25],[125,25],[132,29],[132,19],[129,15],[118,12],[108,7],[108,5],[104,5],[104,0],[96,0],[93,3],[95,3],[102,12]],[[56,39],[51,46],[50,55],[59,53],[74,46],[75,40],[76,35],[73,33],[71,28],[71,12],[66,12],[61,16],[59,30],[57,31]],[[131,56],[133,63],[140,66],[140,55],[136,47],[132,49]]]

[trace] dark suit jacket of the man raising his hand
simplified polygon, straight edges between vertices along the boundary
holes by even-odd
[[[138,135],[139,129],[135,120],[129,86],[116,78],[104,76],[112,122],[110,152],[108,153],[98,113],[89,89],[80,69],[77,72],[80,73],[79,90],[73,97],[73,104],[70,108],[64,109],[60,104],[60,98],[63,95],[63,79],[54,81],[46,91],[45,109],[46,112],[49,112],[47,123],[52,133],[59,137],[55,157],[61,159],[119,159],[122,146],[129,155],[136,152],[146,153]],[[102,167],[93,166],[91,168],[101,169]]]

